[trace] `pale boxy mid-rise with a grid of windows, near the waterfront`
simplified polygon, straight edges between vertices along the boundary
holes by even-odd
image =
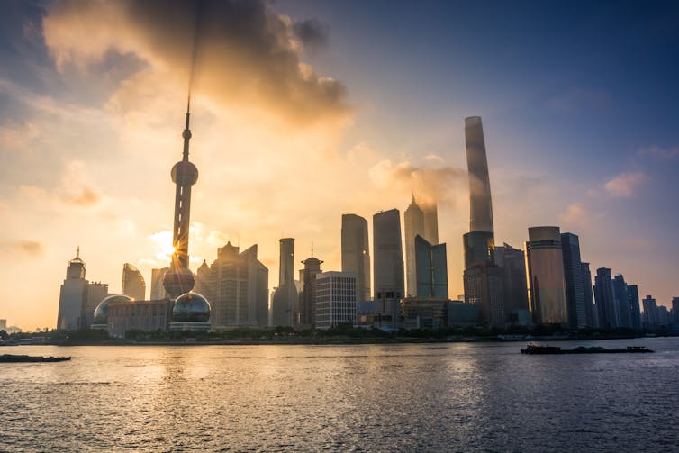
[[[356,275],[350,272],[316,274],[316,327],[328,329],[356,324]]]

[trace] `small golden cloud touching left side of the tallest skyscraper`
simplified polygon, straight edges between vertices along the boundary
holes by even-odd
[[[415,167],[409,161],[396,165],[385,159],[369,169],[373,184],[381,189],[396,187],[402,192],[414,192],[424,204],[457,204],[456,195],[464,192],[467,173],[462,168]]]

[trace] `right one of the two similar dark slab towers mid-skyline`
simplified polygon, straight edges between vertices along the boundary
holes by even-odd
[[[373,216],[375,300],[403,298],[403,249],[401,219],[397,209]]]

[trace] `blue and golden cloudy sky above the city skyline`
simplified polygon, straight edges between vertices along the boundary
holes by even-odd
[[[80,247],[119,292],[171,253],[191,86],[191,267],[258,244],[340,270],[342,213],[439,204],[451,297],[481,116],[495,242],[580,236],[591,267],[679,295],[675,2],[5,1],[0,318],[54,327]],[[193,69],[192,69],[193,68]],[[372,244],[372,238],[371,238]],[[301,267],[297,264],[297,268]],[[149,288],[147,288],[147,291]]]

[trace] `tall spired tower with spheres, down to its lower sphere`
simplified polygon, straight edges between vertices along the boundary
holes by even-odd
[[[172,182],[175,183],[175,222],[172,231],[172,263],[163,277],[163,286],[171,299],[191,291],[194,274],[188,268],[188,231],[191,214],[191,186],[198,180],[198,168],[188,160],[188,142],[191,131],[188,128],[189,108],[186,108],[186,127],[182,133],[184,153],[182,159],[172,168]]]

